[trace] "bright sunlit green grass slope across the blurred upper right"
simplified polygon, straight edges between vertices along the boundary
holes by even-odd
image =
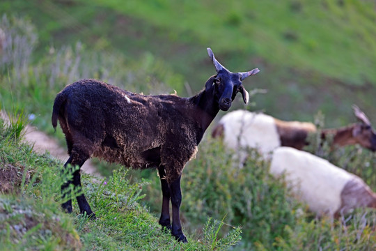
[[[217,53],[235,51],[262,56],[273,64],[283,62],[289,68],[309,70],[349,84],[376,80],[370,68],[375,64],[376,51],[371,35],[376,29],[376,13],[369,9],[372,3],[343,1],[341,6],[333,1],[94,2],[147,20],[166,31],[167,38],[180,43],[211,45]],[[346,53],[340,54],[338,50]],[[366,59],[362,58],[366,55]]]

